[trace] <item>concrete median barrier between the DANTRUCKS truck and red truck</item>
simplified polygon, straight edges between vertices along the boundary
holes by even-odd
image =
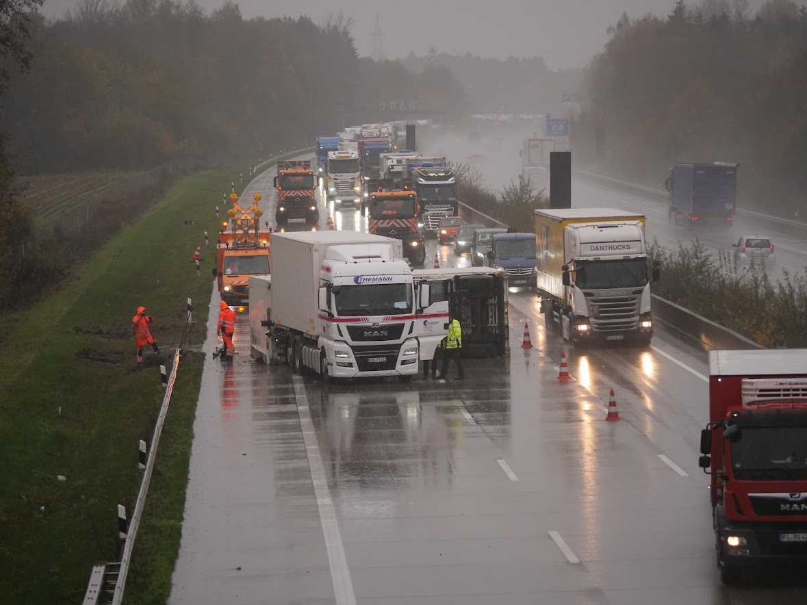
[[[661,298],[656,294],[651,294],[651,297],[650,308],[653,311],[653,320],[662,323],[676,336],[697,348],[704,351],[765,348],[734,330],[672,303],[667,298]]]

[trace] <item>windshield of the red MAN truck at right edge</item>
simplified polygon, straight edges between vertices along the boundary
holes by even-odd
[[[737,479],[807,479],[807,427],[743,427],[731,467]]]

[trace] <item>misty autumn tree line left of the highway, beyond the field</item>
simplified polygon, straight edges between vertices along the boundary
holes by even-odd
[[[353,115],[359,123],[405,117],[371,113],[391,99],[463,110],[463,87],[445,67],[412,73],[359,57],[341,13],[314,23],[244,19],[230,0],[209,14],[194,0],[78,0],[48,21],[37,12],[43,1],[0,0],[9,15],[0,35],[0,302],[23,280],[39,291],[31,268],[65,274],[157,191],[129,200],[125,213],[98,213],[102,224],[90,219],[86,234],[70,234],[80,249],[54,255],[31,245],[15,173],[226,165],[313,144],[338,131],[346,111],[366,111]]]

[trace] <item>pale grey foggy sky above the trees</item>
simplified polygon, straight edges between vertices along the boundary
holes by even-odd
[[[223,0],[197,2],[210,11]],[[763,2],[750,0],[749,6],[755,12]],[[61,16],[74,3],[45,0],[43,12]],[[425,55],[433,47],[437,52],[503,59],[542,56],[550,69],[560,69],[585,66],[603,48],[606,27],[616,23],[623,10],[631,18],[648,12],[667,15],[675,0],[240,0],[237,4],[245,19],[303,14],[315,23],[342,10],[353,19],[353,39],[363,56],[373,53],[370,31],[378,13],[387,58],[406,56],[411,50]]]

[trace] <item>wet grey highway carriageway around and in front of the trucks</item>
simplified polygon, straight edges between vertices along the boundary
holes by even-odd
[[[261,191],[270,221],[273,176],[244,194]],[[427,266],[435,253],[467,263],[429,241]],[[650,349],[568,349],[561,382],[535,294],[510,301],[508,357],[409,384],[325,387],[254,362],[240,313],[235,361],[205,362],[169,602],[804,603],[788,574],[721,585],[696,465],[705,354],[659,331]]]

